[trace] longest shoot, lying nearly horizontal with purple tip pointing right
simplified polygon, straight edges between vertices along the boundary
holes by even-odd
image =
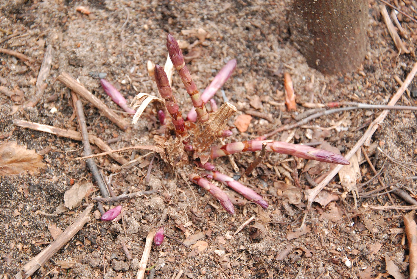
[[[259,151],[262,149],[262,143],[266,142],[266,151],[273,151],[281,154],[289,154],[307,160],[315,160],[326,163],[334,163],[340,165],[349,165],[342,155],[333,153],[323,149],[317,149],[311,146],[286,143],[283,141],[240,141],[228,143],[224,146],[213,146],[211,148],[211,158],[230,155],[243,151]]]

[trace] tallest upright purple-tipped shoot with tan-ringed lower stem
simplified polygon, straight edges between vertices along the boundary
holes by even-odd
[[[193,106],[196,109],[197,118],[200,122],[208,121],[208,113],[206,111],[206,106],[204,106],[203,100],[201,100],[200,92],[198,92],[196,83],[194,83],[193,78],[190,75],[190,72],[185,65],[184,57],[182,55],[182,50],[180,49],[178,42],[175,38],[168,34],[166,37],[166,47],[168,48],[169,58],[174,65],[174,68],[177,70],[178,75],[180,76],[185,89],[187,90],[188,95],[191,97]]]

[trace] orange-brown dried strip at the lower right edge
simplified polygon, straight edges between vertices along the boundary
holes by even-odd
[[[410,279],[417,278],[417,225],[414,217],[414,210],[404,216],[405,233],[407,235],[409,251]]]

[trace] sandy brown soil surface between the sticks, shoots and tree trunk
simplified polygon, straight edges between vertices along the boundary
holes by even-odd
[[[413,15],[416,1],[404,2],[402,9]],[[413,43],[417,26],[405,17],[400,18],[408,32],[409,40],[405,42],[411,53],[397,55],[379,13],[380,4],[369,1],[369,44],[362,69],[326,76],[309,68],[291,43],[288,28],[291,17],[287,15],[290,1],[1,1],[0,47],[35,59],[27,65],[14,56],[0,54],[1,85],[24,93],[19,101],[0,95],[1,141],[17,141],[36,150],[44,156],[46,167],[35,176],[0,177],[0,273],[3,274],[0,278],[13,277],[53,241],[57,229],[64,230],[92,197],[99,194],[94,187],[77,208],[53,214],[63,204],[64,193],[74,182],[93,181],[83,161],[70,160],[81,155],[82,143],[13,126],[14,119],[23,119],[78,129],[70,92],[55,80],[60,73],[78,78],[95,96],[120,112],[89,73],[108,73],[107,79],[129,102],[139,92],[156,96],[156,85],[148,76],[146,63],[148,60],[165,63],[165,38],[169,32],[178,40],[196,42],[184,54],[200,89],[210,83],[227,61],[237,59],[236,70],[223,87],[229,102],[238,109],[229,125],[234,126],[236,117],[248,111],[264,113],[267,119],[254,116],[246,132],[233,129],[234,135],[225,142],[248,140],[295,122],[293,117],[308,110],[302,103],[386,104],[389,101],[399,87],[394,75],[404,80],[415,63]],[[76,11],[80,5],[87,7],[90,15]],[[203,42],[196,35],[182,32],[198,28],[209,33]],[[48,45],[53,46],[54,52],[48,86],[35,108],[23,108],[35,94],[36,78]],[[291,74],[294,83],[299,103],[296,112],[287,112],[282,105],[284,72]],[[173,77],[173,90],[182,112],[188,112],[191,102],[177,74]],[[411,97],[405,95],[399,104],[415,106],[415,81],[409,90]],[[224,102],[221,92],[215,100],[219,105]],[[84,108],[89,133],[109,141],[111,148],[155,144],[153,136],[158,134],[160,124],[154,106],[149,106],[138,123],[127,131],[100,116],[85,101]],[[291,143],[319,139],[345,154],[379,112],[348,111],[321,117],[273,139]],[[126,119],[131,117],[120,114]],[[415,116],[414,112],[391,111],[374,134],[372,143],[377,143],[392,158],[414,164],[417,158]],[[100,152],[93,146],[93,153]],[[199,172],[194,166],[172,169],[156,156],[146,182],[154,156],[153,153],[142,156],[147,153],[121,153],[128,160],[139,158],[133,166],[122,169],[110,157],[95,161],[106,178],[113,175],[116,195],[126,189],[129,192],[156,189],[158,193],[121,202],[126,210],[123,221],[100,221],[95,207],[91,220],[32,278],[134,278],[146,235],[158,223],[165,227],[166,234],[185,241],[189,248],[171,239],[154,246],[148,260],[148,267],[155,265],[154,278],[180,278],[179,273],[181,278],[381,278],[388,276],[386,254],[408,276],[407,247],[402,242],[402,231],[395,230],[404,228],[405,211],[362,207],[364,204],[392,205],[392,202],[406,205],[397,196],[392,195],[390,201],[387,194],[382,194],[388,189],[359,197],[356,211],[351,193],[343,195],[344,189],[339,187],[336,176],[329,188],[334,189],[338,200],[325,207],[314,203],[307,210],[302,201],[294,205],[291,199],[294,197],[282,191],[283,185],[295,185],[291,173],[294,168],[301,188],[311,187],[303,174],[305,160],[268,154],[250,176],[245,176],[244,170],[256,154],[239,153],[232,156],[239,173],[234,172],[227,157],[215,159],[213,163],[263,195],[270,206],[263,210],[255,204],[244,203],[236,206],[236,214],[231,216],[206,191],[184,181],[183,175],[188,177],[190,171]],[[379,151],[369,151],[369,156],[377,170],[386,159]],[[360,163],[362,178],[357,181],[358,187],[374,175],[366,161]],[[415,180],[406,179],[415,175],[416,166],[407,166],[411,171],[388,160],[382,181],[389,184],[390,178],[399,182],[405,191],[411,191],[410,194],[416,193]],[[308,172],[315,179],[327,170],[328,166],[319,164]],[[380,187],[379,181],[373,180],[358,191],[364,194]],[[226,187],[225,190],[233,195]],[[340,199],[344,196],[345,199]],[[254,215],[254,221],[233,236]],[[122,243],[133,259],[127,259]]]

